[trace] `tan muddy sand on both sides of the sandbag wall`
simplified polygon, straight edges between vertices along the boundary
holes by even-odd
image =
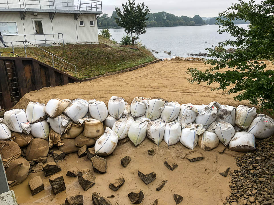
[[[268,68],[274,66],[267,62]],[[206,83],[201,85],[189,84],[188,76],[184,72],[188,67],[196,67],[201,70],[209,68],[202,62],[186,62],[172,60],[158,62],[147,67],[136,69],[125,73],[110,75],[83,83],[72,83],[68,85],[43,88],[39,91],[31,91],[24,95],[15,108],[26,108],[29,101],[47,103],[52,98],[86,100],[96,99],[104,101],[106,104],[111,96],[123,97],[129,104],[134,97],[152,97],[164,98],[168,101],[178,101],[178,103],[208,104],[211,101],[217,101],[221,104],[238,106],[239,104],[248,105],[247,102],[238,102],[233,99],[235,95],[222,95],[222,91],[211,91],[214,84],[207,86]],[[154,148],[155,155],[148,155],[148,149]],[[56,150],[54,147],[53,150]],[[48,177],[43,172],[31,173],[27,179],[20,185],[11,188],[14,190],[17,201],[20,204],[62,204],[67,196],[81,193],[84,195],[84,205],[92,204],[92,193],[99,192],[102,196],[114,194],[114,198],[108,198],[112,204],[127,205],[130,204],[128,193],[135,189],[142,189],[144,200],[142,204],[153,204],[157,198],[164,199],[168,204],[175,204],[173,194],[180,194],[184,200],[180,204],[223,204],[229,196],[229,182],[231,176],[223,177],[219,172],[225,171],[231,167],[230,172],[238,169],[235,157],[243,155],[225,149],[223,154],[219,151],[224,149],[223,144],[211,151],[203,151],[198,147],[192,151],[182,144],[168,147],[165,142],[160,146],[153,144],[148,138],[140,145],[134,147],[129,141],[125,144],[118,145],[114,152],[105,157],[107,160],[107,173],[96,176],[96,184],[86,192],[78,183],[78,178],[67,177],[67,170],[71,167],[78,169],[92,169],[91,161],[86,157],[78,159],[77,153],[66,155],[65,160],[59,161],[62,171],[59,172],[64,176],[66,191],[54,195],[49,184]],[[205,159],[191,163],[186,159],[189,153],[200,153]],[[132,161],[124,168],[120,164],[120,159],[129,155]],[[177,162],[178,168],[174,171],[164,166],[164,161],[172,158]],[[48,157],[47,161],[53,161]],[[138,170],[144,174],[154,171],[156,180],[145,185],[138,177]],[[45,190],[31,195],[28,181],[35,176],[40,176],[44,182]],[[108,188],[116,178],[123,176],[124,185],[114,192]],[[166,186],[160,192],[156,187],[162,180],[168,180]]]

